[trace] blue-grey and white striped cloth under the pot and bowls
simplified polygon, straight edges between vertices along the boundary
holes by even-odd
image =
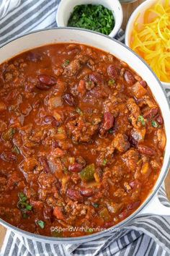
[[[63,0],[64,1],[64,0]],[[73,0],[70,0],[73,1]],[[0,0],[0,46],[30,31],[56,27],[59,0]],[[122,30],[117,35],[123,40]],[[167,91],[170,99],[170,90]],[[159,200],[169,207],[164,187]],[[84,244],[48,244],[6,232],[1,256],[169,256],[170,217],[138,216],[124,229]]]

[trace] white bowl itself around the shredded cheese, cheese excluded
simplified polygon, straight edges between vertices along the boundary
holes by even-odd
[[[133,14],[130,16],[130,19],[128,21],[128,25],[126,27],[126,31],[125,31],[125,44],[130,48],[130,36],[133,30],[133,25],[134,22],[136,20],[136,18],[138,17],[138,20],[140,22],[143,22],[143,14],[146,12],[146,9],[150,8],[151,6],[153,6],[154,3],[156,3],[158,0],[146,0],[144,1],[142,4],[140,4],[138,6],[138,8],[135,9],[135,11],[133,12]],[[161,0],[162,2],[164,2],[165,0]],[[161,84],[164,85],[164,88],[166,89],[170,89],[170,82],[162,82]]]

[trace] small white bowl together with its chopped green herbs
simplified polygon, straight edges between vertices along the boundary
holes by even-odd
[[[58,27],[81,27],[115,37],[122,25],[118,0],[61,0],[56,14]]]

